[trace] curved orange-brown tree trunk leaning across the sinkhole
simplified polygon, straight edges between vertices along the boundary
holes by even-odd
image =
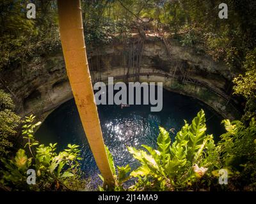
[[[81,4],[79,0],[58,1],[61,45],[68,79],[86,137],[105,183],[115,183],[104,147],[100,121],[95,104],[90,71],[84,44]]]

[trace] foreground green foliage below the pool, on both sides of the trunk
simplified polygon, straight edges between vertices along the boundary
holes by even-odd
[[[12,159],[1,159],[1,184],[12,190],[27,191],[83,191],[86,181],[83,179],[78,145],[68,144],[67,149],[56,152],[57,144],[40,145],[33,137],[34,129],[40,122],[34,123],[33,115],[26,117],[22,134],[27,140],[25,148],[19,149]],[[127,166],[116,166],[113,156],[106,147],[109,165],[115,177],[115,186],[99,187],[100,191],[180,191],[221,189],[217,179],[218,170],[228,170],[228,189],[255,190],[255,156],[256,156],[256,122],[251,120],[249,126],[241,121],[223,120],[227,133],[221,135],[216,146],[212,135],[205,133],[205,114],[201,110],[184,126],[171,142],[168,131],[159,128],[157,149],[141,145],[143,149],[128,147],[140,166],[131,171]],[[34,149],[35,148],[35,149]],[[36,185],[27,185],[26,171],[36,171]],[[131,173],[130,173],[131,172]],[[104,179],[99,175],[100,179]],[[125,182],[135,183],[127,187]],[[130,183],[129,183],[130,184]]]

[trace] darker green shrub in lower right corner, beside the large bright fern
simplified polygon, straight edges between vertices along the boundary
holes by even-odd
[[[236,188],[255,191],[256,189],[256,122],[245,126],[241,121],[223,120],[227,133],[221,135],[218,151],[223,168],[235,173]],[[234,189],[232,189],[234,190]]]

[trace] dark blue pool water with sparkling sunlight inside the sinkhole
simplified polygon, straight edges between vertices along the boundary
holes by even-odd
[[[201,109],[205,111],[207,133],[214,135],[214,139],[218,141],[224,132],[221,126],[223,118],[218,113],[194,98],[165,89],[161,112],[150,112],[150,105],[131,105],[124,108],[118,105],[98,106],[104,142],[109,147],[115,164],[125,166],[129,163],[132,169],[136,168],[138,163],[127,151],[127,146],[138,148],[146,144],[156,148],[159,126],[170,132],[173,141],[184,125],[184,119],[190,123]],[[102,183],[74,99],[59,106],[45,119],[36,131],[36,138],[45,144],[58,143],[58,150],[65,149],[68,143],[80,145],[83,157],[81,168],[85,176],[90,178],[90,188],[95,189]]]

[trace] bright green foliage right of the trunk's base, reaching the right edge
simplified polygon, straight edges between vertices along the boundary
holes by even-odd
[[[212,135],[205,133],[205,114],[201,110],[171,141],[168,131],[159,128],[157,149],[141,145],[143,149],[128,147],[140,166],[129,171],[129,164],[118,166],[116,174],[113,157],[108,158],[115,174],[115,191],[190,191],[190,190],[246,190],[256,189],[256,122],[249,126],[236,120],[223,120],[227,133],[218,145]],[[228,185],[218,184],[219,170],[228,172]],[[129,175],[128,175],[129,174]],[[124,182],[135,178],[135,184],[125,189]],[[106,189],[106,188],[105,188]],[[100,190],[104,190],[100,187]]]

